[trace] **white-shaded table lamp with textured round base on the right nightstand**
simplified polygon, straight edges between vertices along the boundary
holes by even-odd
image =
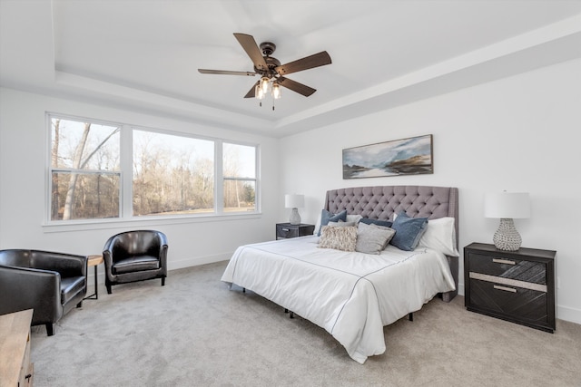
[[[500,225],[492,238],[494,246],[499,250],[517,251],[522,238],[513,219],[530,217],[528,193],[503,191],[487,194],[484,200],[484,216],[500,218]]]

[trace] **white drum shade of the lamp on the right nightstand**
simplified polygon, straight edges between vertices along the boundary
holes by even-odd
[[[530,198],[527,192],[489,193],[484,199],[486,218],[529,218]]]

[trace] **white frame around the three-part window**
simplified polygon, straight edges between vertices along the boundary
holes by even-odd
[[[52,165],[52,120],[68,120],[68,121],[78,121],[78,122],[91,122],[95,124],[118,126],[120,128],[120,144],[119,144],[119,157],[120,157],[120,170],[118,171],[107,171],[113,174],[119,174],[120,187],[119,187],[119,218],[84,218],[84,219],[69,219],[69,220],[53,220],[51,213],[52,206],[52,175],[55,171],[70,172],[70,173],[99,173],[100,170],[93,169],[66,169],[66,168],[54,168]],[[66,230],[66,229],[79,229],[79,226],[86,226],[89,228],[106,228],[110,227],[111,224],[123,224],[131,225],[135,222],[153,222],[156,224],[172,224],[172,223],[192,223],[197,221],[205,220],[209,218],[220,220],[220,219],[231,219],[231,218],[257,218],[261,216],[261,191],[260,191],[260,160],[261,160],[261,148],[260,144],[230,140],[230,139],[220,139],[209,136],[202,136],[192,133],[184,133],[182,131],[168,131],[157,128],[149,128],[141,125],[126,124],[122,122],[115,121],[103,121],[93,118],[80,117],[68,114],[62,114],[53,111],[45,112],[46,121],[46,141],[45,141],[45,205],[44,205],[44,227],[54,228],[55,231]],[[214,146],[214,206],[212,212],[203,213],[191,213],[191,214],[180,214],[180,215],[143,215],[143,216],[133,216],[133,131],[150,131],[153,133],[159,133],[164,135],[177,136],[182,138],[194,139],[194,140],[209,140],[213,142]],[[226,181],[223,177],[222,171],[222,160],[223,160],[223,144],[235,144],[252,147],[255,150],[255,160],[254,169],[255,176],[254,179],[254,210],[241,210],[241,211],[228,211],[224,212],[223,208],[223,189],[224,182]],[[243,180],[248,180],[247,178]]]

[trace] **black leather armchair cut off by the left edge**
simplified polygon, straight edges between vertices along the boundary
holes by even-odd
[[[32,325],[54,323],[83,305],[87,293],[87,256],[50,251],[0,250],[0,314],[33,309]]]

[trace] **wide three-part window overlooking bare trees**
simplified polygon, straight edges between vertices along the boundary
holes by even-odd
[[[51,222],[257,210],[255,145],[48,118]]]

